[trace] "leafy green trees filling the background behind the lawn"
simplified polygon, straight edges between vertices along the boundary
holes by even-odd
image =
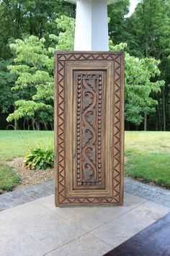
[[[126,128],[166,130],[170,2],[141,1],[125,18],[128,7],[125,0],[108,9],[110,48],[126,51]],[[74,8],[63,0],[0,2],[0,112],[8,121],[22,120],[21,128],[53,127],[53,52],[73,48]]]

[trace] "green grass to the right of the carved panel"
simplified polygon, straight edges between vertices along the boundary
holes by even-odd
[[[170,132],[126,132],[125,175],[170,189]]]

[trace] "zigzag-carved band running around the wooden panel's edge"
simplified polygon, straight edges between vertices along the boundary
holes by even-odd
[[[114,61],[114,155],[113,155],[113,195],[109,198],[67,198],[65,184],[64,166],[64,62],[65,61],[84,61],[84,60],[107,60]],[[120,175],[121,175],[121,152],[120,152],[120,129],[121,129],[121,54],[58,54],[58,203],[59,204],[112,204],[120,202]]]

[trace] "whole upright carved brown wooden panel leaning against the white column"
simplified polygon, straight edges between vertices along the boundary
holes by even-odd
[[[120,205],[124,56],[55,55],[55,204]]]

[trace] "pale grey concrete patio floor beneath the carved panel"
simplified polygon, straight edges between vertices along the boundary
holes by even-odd
[[[50,195],[0,213],[2,256],[100,256],[169,213],[125,193],[115,208],[55,208]]]

